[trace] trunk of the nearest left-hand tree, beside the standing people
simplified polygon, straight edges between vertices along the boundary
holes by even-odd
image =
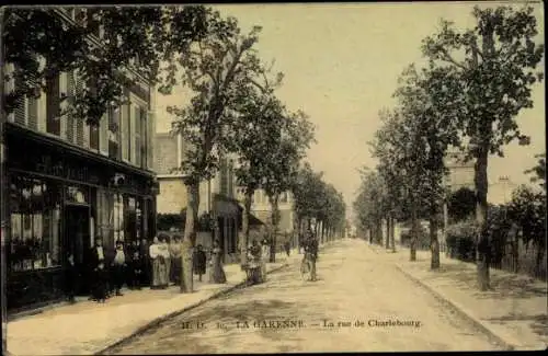
[[[199,182],[186,185],[186,222],[182,243],[181,292],[193,292],[192,254],[196,243],[196,227],[198,221]]]

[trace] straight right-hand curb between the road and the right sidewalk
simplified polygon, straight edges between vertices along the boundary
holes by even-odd
[[[429,292],[431,292],[436,299],[439,299],[444,301],[445,303],[449,305],[452,309],[454,309],[456,312],[458,312],[460,315],[465,317],[468,321],[470,321],[472,324],[475,324],[476,328],[480,329],[483,333],[486,333],[490,338],[492,338],[494,342],[496,342],[499,345],[503,346],[505,351],[515,351],[517,346],[514,343],[509,343],[507,341],[504,340],[501,335],[499,335],[499,332],[493,331],[489,325],[480,321],[478,318],[473,315],[472,312],[468,311],[466,308],[460,306],[458,302],[450,300],[446,296],[444,296],[442,292],[435,290],[433,287],[429,286],[421,279],[414,277],[412,274],[407,272],[403,267],[401,267],[399,264],[396,264],[396,267],[403,273],[409,279],[418,284],[419,286],[423,287],[426,289]]]

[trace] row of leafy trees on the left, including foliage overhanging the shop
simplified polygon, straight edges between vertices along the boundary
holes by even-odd
[[[156,84],[162,94],[183,85],[190,102],[181,97],[168,113],[174,118],[172,131],[187,142],[179,166],[187,186],[181,290],[191,292],[199,183],[217,173],[224,157],[236,153],[236,176],[246,196],[241,251],[248,245],[256,188],[265,190],[273,206],[275,237],[279,195],[293,191],[305,196],[297,182],[313,142],[313,126],[305,113],[289,111],[276,97],[283,74],[264,64],[255,49],[261,27],[242,33],[236,19],[203,5],[67,9],[76,12],[76,22],[62,19],[67,12],[59,8],[4,11],[4,60],[12,65],[4,80],[15,83],[4,97],[4,117],[22,97],[55,91],[60,72],[76,71],[87,85],[75,97],[61,97],[67,105],[59,116],[92,126],[109,108],[126,103],[126,88],[138,80]],[[313,214],[306,210],[299,217],[315,217],[333,228],[341,219],[333,211],[341,214],[342,199],[334,188],[323,188],[317,193],[324,196],[313,197],[323,199],[322,208],[315,203]],[[244,263],[246,253],[241,255]]]

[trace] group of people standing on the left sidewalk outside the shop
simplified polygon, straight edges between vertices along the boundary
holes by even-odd
[[[168,236],[161,234],[155,237],[150,244],[146,240],[133,241],[127,245],[123,241],[116,241],[115,249],[109,250],[103,246],[103,240],[96,238],[87,256],[85,277],[91,282],[90,299],[104,302],[112,296],[122,296],[124,285],[129,289],[141,289],[146,286],[151,289],[165,289],[171,284],[180,285],[183,246],[179,236],[169,240]],[[218,240],[214,241],[209,254],[208,259],[201,244],[194,249],[193,274],[202,282],[209,260],[209,282],[226,283],[222,250]],[[72,255],[68,256],[68,262],[67,289],[69,300],[73,301],[78,273]]]

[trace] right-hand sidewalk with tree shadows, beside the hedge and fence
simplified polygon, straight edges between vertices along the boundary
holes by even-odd
[[[488,334],[512,349],[545,349],[548,345],[547,285],[525,275],[491,268],[493,290],[477,288],[476,265],[441,254],[438,272],[430,271],[430,251],[416,251],[410,262],[409,249],[396,253],[372,245],[386,261],[414,282],[458,309]]]

